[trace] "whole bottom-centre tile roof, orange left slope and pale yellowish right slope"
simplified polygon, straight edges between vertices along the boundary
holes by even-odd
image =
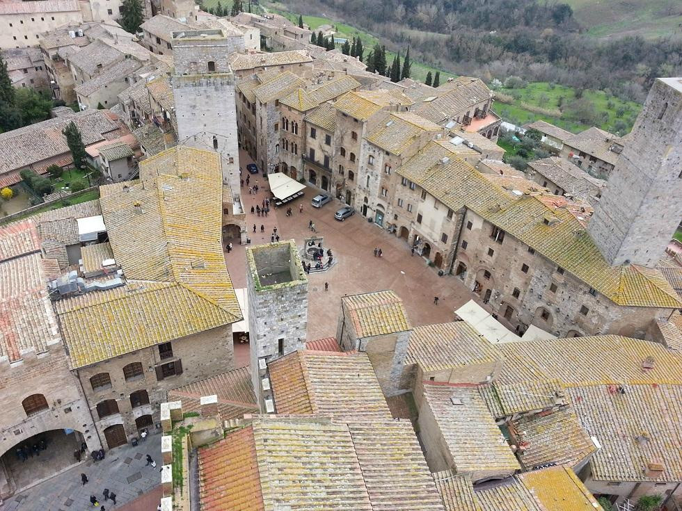
[[[199,470],[207,511],[444,511],[409,421],[259,416],[200,448]]]

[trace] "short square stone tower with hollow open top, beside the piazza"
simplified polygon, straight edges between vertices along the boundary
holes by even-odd
[[[308,278],[293,240],[246,248],[253,390],[267,410],[267,363],[306,346]]]

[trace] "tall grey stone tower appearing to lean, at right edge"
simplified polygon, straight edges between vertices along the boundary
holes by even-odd
[[[682,218],[682,78],[659,78],[587,227],[612,265],[654,266]]]

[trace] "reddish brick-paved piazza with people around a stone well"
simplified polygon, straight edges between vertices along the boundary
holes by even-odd
[[[251,160],[243,152],[241,158],[242,167],[246,168]],[[319,193],[317,188],[308,186],[303,197],[271,209],[267,217],[251,214],[251,206],[262,205],[263,200],[271,197],[267,178],[252,175],[250,184],[253,186],[256,181],[260,186],[257,194],[249,195],[246,184],[241,190],[251,245],[270,243],[273,228],[277,227],[280,240],[294,239],[301,250],[303,240],[313,235],[309,228],[312,220],[317,231],[314,235],[324,237],[323,248],[331,249],[335,259],[330,270],[308,275],[308,340],[335,336],[340,298],[344,295],[392,289],[404,301],[413,326],[452,321],[454,309],[474,298],[459,279],[451,275],[439,277],[426,259],[411,255],[404,239],[367,222],[359,212],[343,222],[335,220],[335,211],[344,205],[339,200],[320,209],[312,207],[310,200]],[[303,204],[303,213],[299,213],[299,204]],[[287,217],[287,207],[292,208],[292,216]],[[374,248],[381,248],[382,257],[374,257]],[[232,252],[225,252],[235,288],[246,286],[245,254],[246,245],[237,243],[232,244]],[[325,282],[329,284],[328,291],[324,291]],[[434,304],[435,296],[439,298],[438,305]]]

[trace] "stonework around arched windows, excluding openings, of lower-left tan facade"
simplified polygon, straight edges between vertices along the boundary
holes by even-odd
[[[135,425],[135,419],[138,417],[151,414],[154,425],[158,424],[160,421],[159,405],[167,400],[168,390],[225,371],[232,371],[235,368],[231,325],[214,328],[182,339],[175,339],[171,342],[171,346],[173,357],[167,359],[161,359],[158,346],[151,346],[80,368],[77,371],[104,444],[106,444],[104,429],[110,425],[122,424],[128,439],[131,439],[138,436]],[[157,366],[178,360],[182,364],[182,373],[159,381]],[[141,362],[144,373],[126,381],[123,368],[133,362]],[[109,373],[110,387],[93,389],[90,378],[98,373]],[[147,391],[150,404],[133,408],[130,402],[130,394],[139,390]],[[97,403],[109,399],[116,400],[120,413],[100,419],[96,409]]]

